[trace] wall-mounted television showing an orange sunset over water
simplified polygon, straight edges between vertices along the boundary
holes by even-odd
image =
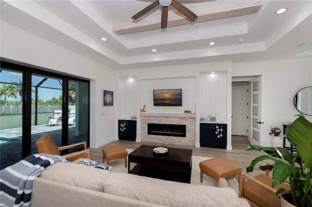
[[[181,106],[182,89],[155,89],[155,106]]]

